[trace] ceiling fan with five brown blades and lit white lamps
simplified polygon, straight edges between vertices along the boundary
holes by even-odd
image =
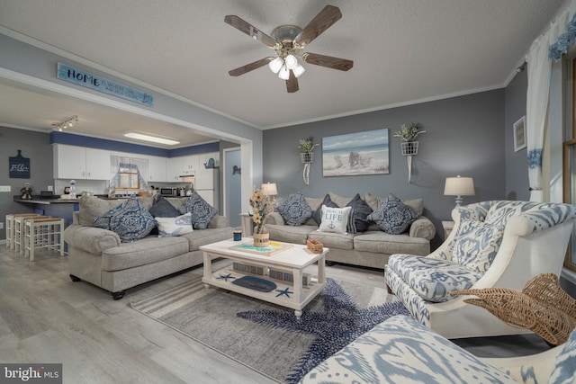
[[[238,31],[246,33],[251,38],[266,44],[266,46],[274,49],[276,54],[276,57],[261,58],[253,63],[232,69],[229,71],[229,75],[244,75],[268,64],[268,67],[275,74],[278,74],[278,77],[286,81],[287,91],[293,93],[298,91],[298,77],[304,72],[304,67],[302,67],[300,60],[316,66],[347,71],[354,66],[354,61],[311,52],[301,53],[302,49],[320,36],[320,33],[328,30],[332,24],[338,22],[341,17],[342,13],[340,13],[338,7],[326,5],[303,30],[295,25],[281,25],[272,31],[272,37],[236,15],[224,17],[224,22]]]

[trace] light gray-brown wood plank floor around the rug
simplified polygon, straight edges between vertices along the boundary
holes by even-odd
[[[202,268],[152,281],[114,301],[70,281],[66,256],[40,251],[31,263],[0,244],[0,362],[62,362],[63,381],[75,384],[275,382],[130,308],[130,299],[199,275]],[[335,265],[327,275],[383,287],[382,271]],[[458,344],[485,356],[547,348],[531,336]]]

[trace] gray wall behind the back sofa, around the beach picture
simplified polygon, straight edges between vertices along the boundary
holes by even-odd
[[[419,136],[419,154],[412,164],[408,183],[406,157],[400,138],[393,138],[402,123],[420,122],[427,133]],[[505,90],[469,94],[429,103],[368,112],[329,121],[269,129],[264,132],[264,182],[277,183],[280,197],[302,191],[308,197],[327,192],[354,196],[371,192],[377,196],[394,193],[401,199],[423,198],[425,215],[437,227],[436,247],[444,241],[441,221],[451,219],[454,197],[444,196],[447,176],[471,176],[475,196],[464,204],[506,198]],[[390,174],[322,177],[321,147],[315,150],[310,185],[302,180],[300,138],[323,137],[373,129],[389,129]]]

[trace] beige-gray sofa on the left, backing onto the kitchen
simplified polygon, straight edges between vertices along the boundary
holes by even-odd
[[[148,210],[150,196],[138,198]],[[176,209],[186,198],[167,199]],[[64,231],[68,246],[68,270],[72,281],[88,281],[121,299],[125,290],[170,273],[202,264],[200,246],[232,236],[228,219],[215,216],[208,228],[193,230],[178,237],[148,235],[122,243],[111,230],[94,227],[93,219],[121,204],[122,201],[83,197],[80,210],[74,213],[73,224]]]

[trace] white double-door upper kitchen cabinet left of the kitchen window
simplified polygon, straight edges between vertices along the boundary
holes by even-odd
[[[110,180],[109,151],[55,144],[53,154],[55,179]]]

